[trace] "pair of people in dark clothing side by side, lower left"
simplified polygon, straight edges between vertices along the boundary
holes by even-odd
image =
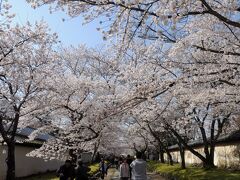
[[[90,168],[86,166],[81,160],[78,161],[77,167],[74,167],[70,160],[66,160],[57,170],[57,176],[60,180],[88,180],[88,172]]]

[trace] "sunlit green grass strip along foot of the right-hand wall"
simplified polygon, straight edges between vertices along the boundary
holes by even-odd
[[[199,167],[188,167],[181,169],[179,164],[173,166],[161,164],[156,161],[148,162],[148,170],[157,172],[165,177],[176,177],[179,180],[204,180],[204,179],[221,179],[237,180],[240,179],[240,171],[229,171],[223,169],[205,170]]]

